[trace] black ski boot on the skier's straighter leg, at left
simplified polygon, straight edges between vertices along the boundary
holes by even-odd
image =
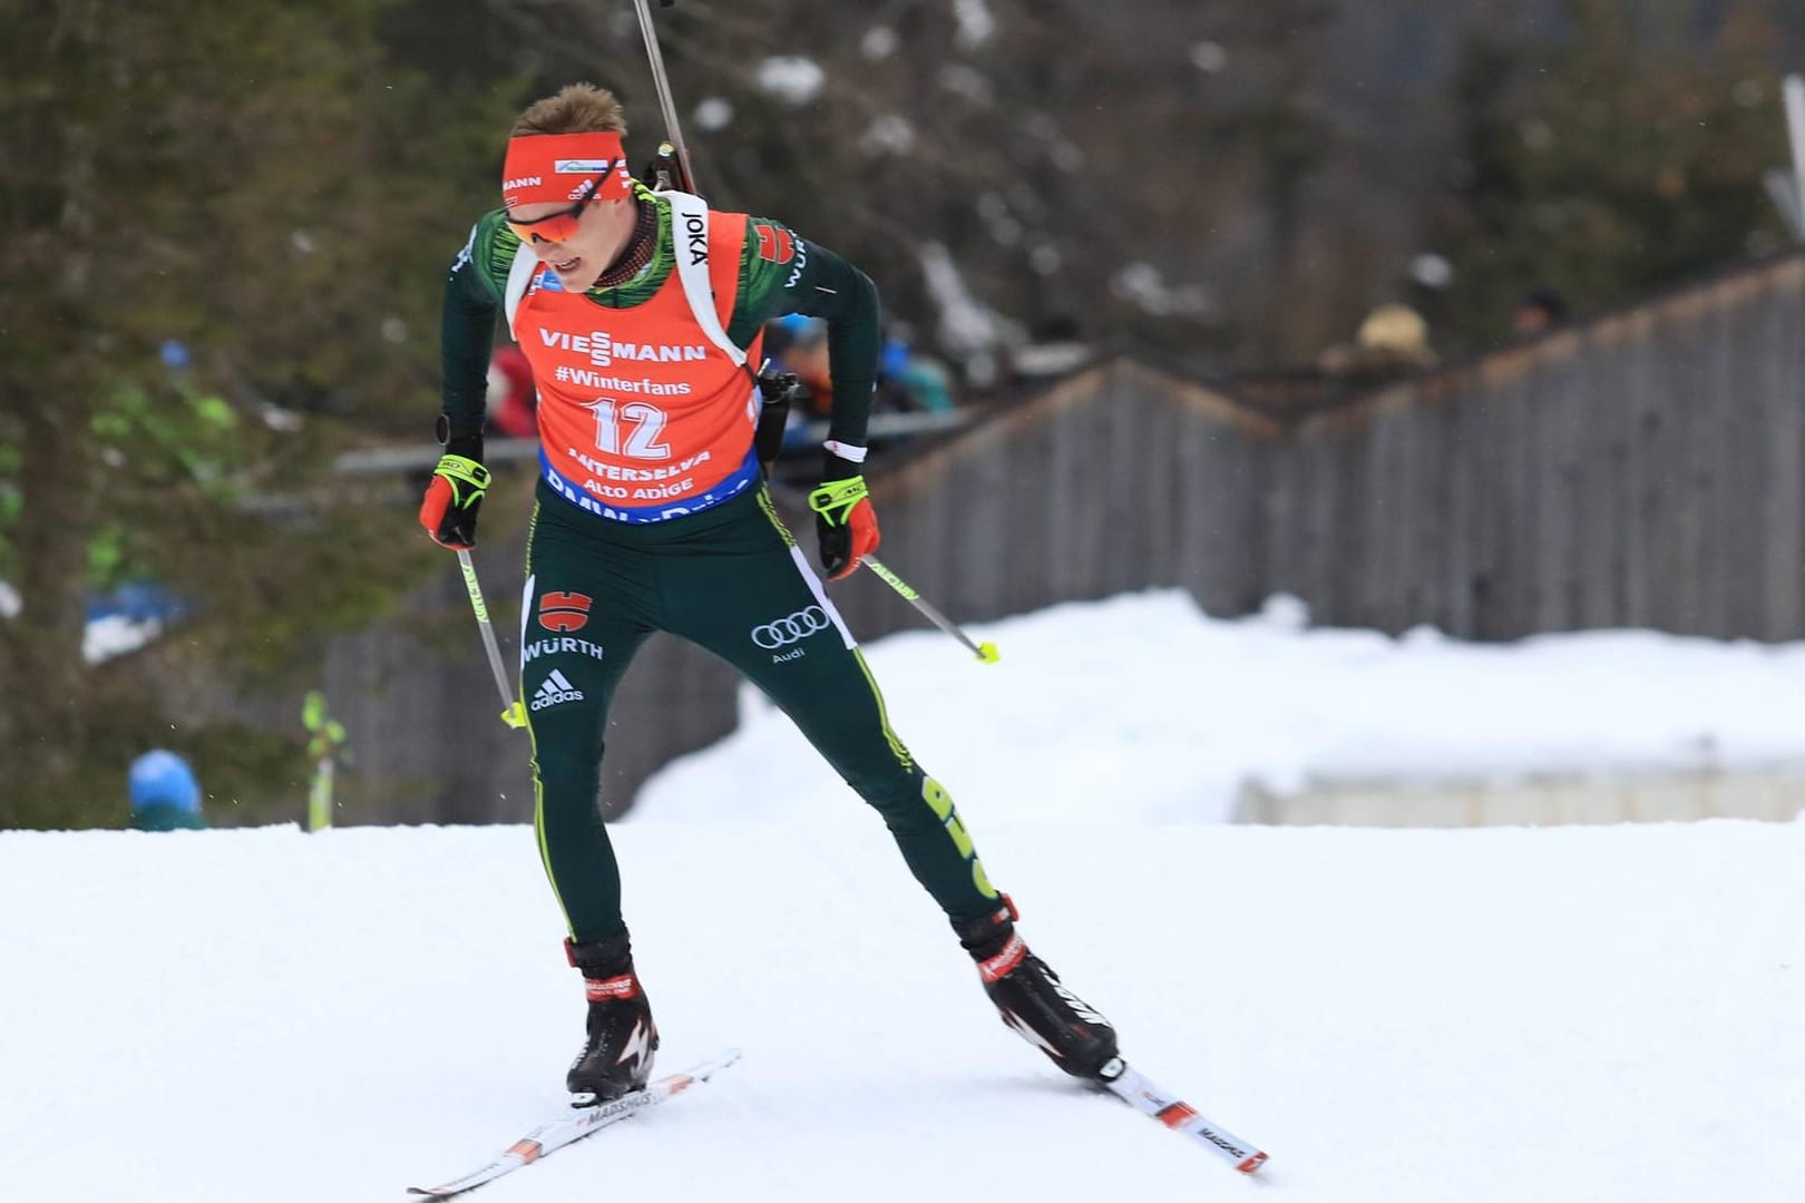
[[[659,1026],[634,972],[628,938],[594,943],[565,940],[565,954],[583,970],[588,988],[588,1041],[565,1075],[570,1106],[597,1107],[644,1089],[652,1077],[652,1053],[659,1048]]]

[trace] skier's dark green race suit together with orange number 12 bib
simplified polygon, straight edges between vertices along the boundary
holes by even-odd
[[[596,799],[608,703],[653,631],[706,647],[780,705],[877,808],[951,920],[991,913],[996,889],[951,799],[890,729],[857,644],[771,505],[751,455],[751,372],[729,354],[756,355],[771,317],[827,319],[828,436],[863,445],[877,292],[776,222],[708,213],[682,195],[637,197],[655,206],[657,242],[626,283],[560,294],[495,211],[477,222],[446,285],[451,433],[482,431],[498,312],[540,390],[520,691],[534,826],[570,936],[588,943],[626,931]],[[700,292],[697,280],[708,281]],[[722,337],[708,332],[709,285]]]

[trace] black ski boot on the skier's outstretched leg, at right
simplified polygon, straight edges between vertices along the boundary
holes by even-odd
[[[1009,895],[986,916],[955,923],[958,941],[978,963],[984,992],[1004,1023],[1072,1077],[1103,1080],[1115,1061],[1115,1028],[1060,985],[1060,976],[1016,934]]]

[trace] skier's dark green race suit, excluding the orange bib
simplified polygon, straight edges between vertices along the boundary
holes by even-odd
[[[670,207],[657,204],[650,263],[587,299],[630,330],[673,271]],[[877,292],[839,256],[774,222],[745,218],[727,337],[747,346],[785,312],[828,321],[830,436],[863,445],[877,357]],[[769,254],[789,245],[785,262]],[[518,240],[500,213],[471,231],[446,285],[446,415],[478,433],[495,316]],[[623,335],[625,337],[625,335]],[[890,729],[883,696],[819,579],[762,485],[653,525],[578,509],[542,478],[527,548],[520,691],[532,734],[534,826],[578,943],[626,931],[621,878],[596,808],[608,703],[653,631],[686,638],[753,680],[884,819],[915,878],[955,922],[996,909],[996,889],[946,790]]]

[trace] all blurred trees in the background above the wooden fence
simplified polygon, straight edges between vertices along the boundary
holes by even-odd
[[[919,341],[1065,323],[1208,368],[1314,359],[1424,249],[1453,262],[1426,307],[1444,352],[1502,337],[1531,287],[1590,308],[1760,249],[1774,74],[1805,47],[1791,0],[653,13],[709,198],[852,256]],[[424,442],[435,285],[513,112],[605,83],[637,162],[661,121],[628,0],[0,0],[0,684],[32,685],[0,702],[7,822],[20,795],[67,813],[90,768],[110,797],[121,745],[170,741],[130,671],[83,662],[90,588],[164,583],[209,673],[388,604],[395,548],[431,548],[323,473],[352,429]],[[211,741],[242,781],[283,756],[222,732],[180,750]]]

